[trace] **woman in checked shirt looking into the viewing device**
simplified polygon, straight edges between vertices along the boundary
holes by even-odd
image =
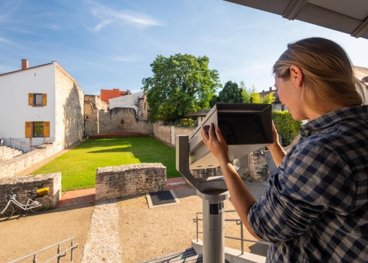
[[[368,262],[368,107],[351,62],[333,41],[288,45],[274,64],[281,103],[309,120],[288,154],[274,128],[277,173],[257,202],[228,158],[218,127],[202,127],[248,231],[270,242],[267,262]]]

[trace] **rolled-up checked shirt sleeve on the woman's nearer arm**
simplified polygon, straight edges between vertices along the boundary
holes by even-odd
[[[351,169],[338,154],[323,145],[301,145],[270,176],[248,220],[263,240],[290,240],[312,228],[324,213],[347,214],[355,189]]]

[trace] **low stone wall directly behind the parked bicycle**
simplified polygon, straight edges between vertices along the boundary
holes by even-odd
[[[16,187],[13,193],[17,194],[17,200],[22,204],[30,198],[32,190],[50,187],[47,196],[51,198],[51,205],[54,207],[61,198],[61,172],[0,178],[0,204],[6,202],[8,190],[12,187]]]

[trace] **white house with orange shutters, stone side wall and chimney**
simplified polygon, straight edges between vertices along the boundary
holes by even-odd
[[[54,141],[59,150],[83,136],[83,91],[57,62],[0,74],[0,138],[23,151]],[[22,146],[21,146],[22,145]]]

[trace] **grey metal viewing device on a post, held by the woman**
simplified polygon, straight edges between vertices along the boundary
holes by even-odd
[[[219,127],[230,161],[272,143],[272,105],[217,103],[201,126],[207,131],[213,123]],[[203,262],[224,263],[224,200],[229,198],[222,176],[195,178],[191,170],[219,167],[219,162],[204,145],[201,126],[190,136],[177,135],[176,169],[197,189],[203,207]]]

